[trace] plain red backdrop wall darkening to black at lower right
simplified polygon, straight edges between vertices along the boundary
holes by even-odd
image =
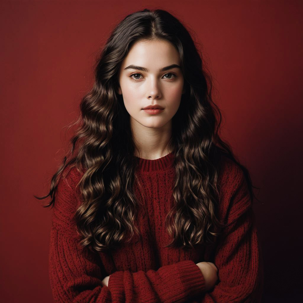
[[[295,302],[302,284],[302,2],[114,2],[0,4],[2,301],[52,302],[51,210],[32,195],[49,188],[68,138],[63,127],[92,85],[110,31],[131,12],[162,8],[203,45],[223,136],[261,188],[255,193],[264,204],[254,209],[264,302]]]

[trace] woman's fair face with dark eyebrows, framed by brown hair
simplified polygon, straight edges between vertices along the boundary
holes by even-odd
[[[171,123],[184,93],[179,53],[168,41],[139,40],[122,61],[118,93],[123,96],[132,126],[160,128]],[[143,108],[159,105],[159,113]]]

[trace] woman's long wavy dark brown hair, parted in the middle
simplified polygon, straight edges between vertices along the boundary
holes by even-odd
[[[164,39],[179,52],[185,93],[172,118],[169,148],[175,154],[174,207],[166,217],[172,241],[166,247],[193,248],[214,243],[224,226],[217,218],[219,163],[222,155],[245,174],[251,199],[255,197],[248,170],[219,136],[221,113],[212,101],[212,79],[202,53],[182,23],[169,12],[144,9],[126,16],[112,31],[95,65],[95,82],[80,103],[78,128],[70,148],[43,197],[55,203],[63,171],[83,172],[78,183],[82,205],[75,213],[82,247],[104,251],[119,247],[127,235],[140,234],[134,225],[140,202],[132,189],[138,158],[129,114],[117,93],[122,60],[140,39]]]

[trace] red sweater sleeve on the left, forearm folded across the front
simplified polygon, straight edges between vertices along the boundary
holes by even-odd
[[[79,206],[72,171],[58,184],[49,248],[49,278],[55,302],[186,302],[205,289],[191,260],[158,270],[107,273],[100,255],[80,248],[73,215]],[[108,286],[102,280],[110,274]],[[194,280],[194,282],[193,282]]]

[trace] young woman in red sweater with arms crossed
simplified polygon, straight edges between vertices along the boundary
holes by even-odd
[[[218,135],[185,27],[163,10],[128,15],[80,108],[40,197],[53,207],[55,302],[259,302],[251,180]]]

